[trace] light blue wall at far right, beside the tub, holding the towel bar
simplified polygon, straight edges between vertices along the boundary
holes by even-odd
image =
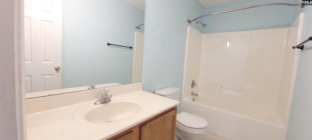
[[[305,6],[302,12],[305,15],[301,41],[312,36],[312,6]],[[305,47],[312,47],[312,41]],[[312,50],[309,49],[299,56],[287,140],[312,140]]]

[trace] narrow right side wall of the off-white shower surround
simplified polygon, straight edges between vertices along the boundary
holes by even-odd
[[[304,13],[293,21],[292,26],[288,30],[288,47],[285,48],[284,53],[284,65],[282,71],[282,78],[280,82],[279,96],[277,110],[281,116],[282,122],[288,122],[290,108],[292,103],[292,93],[294,88],[297,64],[299,59],[300,49],[292,49],[292,46],[301,42],[302,25],[303,25]],[[286,128],[287,128],[286,123]]]

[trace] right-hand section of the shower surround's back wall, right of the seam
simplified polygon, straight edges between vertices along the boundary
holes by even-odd
[[[247,105],[276,110],[287,31],[252,31],[244,82]]]

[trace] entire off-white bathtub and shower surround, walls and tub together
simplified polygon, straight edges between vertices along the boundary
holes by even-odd
[[[285,140],[300,23],[203,35],[189,27],[182,111],[203,117],[209,132],[229,140]],[[191,79],[198,79],[196,88]]]

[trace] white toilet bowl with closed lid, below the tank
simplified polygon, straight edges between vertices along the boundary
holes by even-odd
[[[203,118],[181,112],[176,116],[176,137],[179,140],[199,140],[207,132],[207,125]]]

